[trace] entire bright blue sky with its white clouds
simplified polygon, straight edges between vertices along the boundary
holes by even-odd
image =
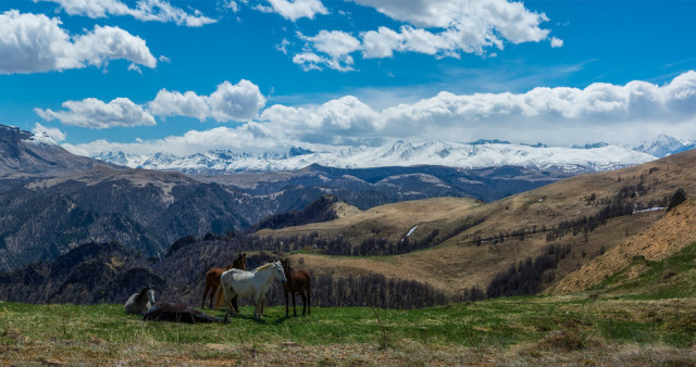
[[[0,123],[103,151],[696,139],[696,1],[0,2]]]

